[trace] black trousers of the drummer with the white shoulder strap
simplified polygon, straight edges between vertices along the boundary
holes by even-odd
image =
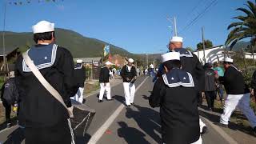
[[[70,126],[68,121],[58,122],[50,127],[26,127],[25,143],[26,144],[71,144]]]

